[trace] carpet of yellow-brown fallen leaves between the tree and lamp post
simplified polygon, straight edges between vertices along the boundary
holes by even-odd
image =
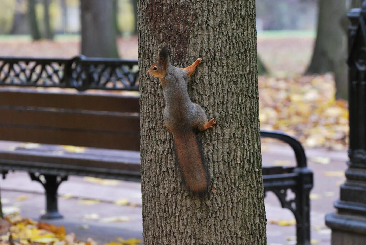
[[[348,144],[348,103],[335,100],[331,75],[272,78],[259,76],[262,130],[281,130],[307,148],[344,150]]]

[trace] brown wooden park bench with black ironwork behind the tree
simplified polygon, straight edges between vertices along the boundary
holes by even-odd
[[[294,149],[296,167],[263,168],[264,188],[294,213],[298,244],[309,244],[313,174],[305,152],[284,133],[261,136]],[[26,171],[44,186],[42,218],[62,217],[57,188],[69,175],[141,181],[137,61],[0,57],[0,140],[41,144],[0,149],[0,171]],[[75,153],[61,145],[87,148]]]

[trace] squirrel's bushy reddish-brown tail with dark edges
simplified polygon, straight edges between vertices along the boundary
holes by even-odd
[[[208,173],[193,130],[174,133],[174,145],[178,164],[188,189],[203,194],[208,191]]]

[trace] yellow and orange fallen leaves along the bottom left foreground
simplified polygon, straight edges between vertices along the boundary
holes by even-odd
[[[78,241],[74,233],[66,234],[63,226],[36,222],[28,218],[22,218],[18,214],[8,215],[6,221],[11,224],[8,231],[4,231],[0,236],[1,245],[97,245],[93,239]],[[130,238],[111,241],[105,245],[138,245],[141,240]]]

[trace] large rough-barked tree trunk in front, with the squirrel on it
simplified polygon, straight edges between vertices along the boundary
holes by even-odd
[[[144,244],[265,245],[255,1],[138,0],[138,13]],[[163,45],[175,66],[203,58],[188,93],[217,120],[199,134],[207,197],[182,183],[162,88],[146,73]]]

